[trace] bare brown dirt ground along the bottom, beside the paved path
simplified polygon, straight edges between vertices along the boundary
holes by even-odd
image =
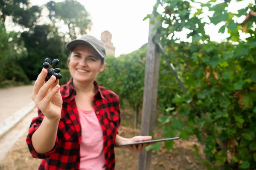
[[[140,130],[133,130],[129,127],[120,126],[120,135],[132,137],[139,135]],[[26,133],[12,146],[6,159],[0,161],[0,170],[37,170],[40,159],[32,158],[26,145]],[[159,152],[153,152],[151,170],[205,170],[201,164],[201,156],[196,157],[193,145],[197,142],[179,140],[175,142],[173,150],[163,147]],[[162,144],[163,146],[163,144]],[[200,147],[200,146],[199,146]],[[1,147],[2,148],[2,147]],[[200,147],[202,153],[202,147]],[[127,149],[115,148],[116,170],[137,170],[138,153],[132,153]]]

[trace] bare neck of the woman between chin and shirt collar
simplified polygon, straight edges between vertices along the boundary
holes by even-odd
[[[73,79],[73,86],[78,93],[88,94],[88,93],[95,93],[95,87],[93,82],[78,82]]]

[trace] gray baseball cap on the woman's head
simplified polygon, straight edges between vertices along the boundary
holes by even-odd
[[[104,60],[106,59],[105,45],[101,40],[98,40],[91,35],[84,35],[76,40],[68,42],[66,48],[69,51],[73,51],[79,44],[90,45],[90,47],[92,47]]]

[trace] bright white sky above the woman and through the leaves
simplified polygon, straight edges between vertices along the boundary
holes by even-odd
[[[60,2],[63,0],[55,0]],[[149,19],[143,21],[147,14],[151,14],[153,6],[157,0],[77,0],[90,13],[93,26],[89,35],[100,39],[100,34],[108,30],[112,34],[111,42],[116,47],[115,56],[128,54],[139,49],[148,42]],[[200,0],[205,1],[205,0]],[[32,5],[42,6],[49,0],[30,0]],[[231,0],[229,11],[236,12],[240,8],[246,7],[249,3],[254,4],[254,0],[243,0],[236,2]],[[239,23],[245,16],[239,18]],[[208,19],[209,20],[209,19]],[[205,20],[207,21],[207,19]],[[206,34],[209,34],[211,41],[220,42],[228,37],[227,30],[224,34],[218,33],[218,29],[223,25],[217,26],[210,24],[205,27]],[[256,26],[255,26],[256,27]],[[9,27],[12,29],[12,26]],[[186,30],[184,30],[186,32]],[[184,32],[176,34],[180,40],[185,40]],[[244,39],[247,36],[240,34]],[[191,41],[191,40],[188,40]]]

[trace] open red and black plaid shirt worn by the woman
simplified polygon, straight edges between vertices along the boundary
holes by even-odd
[[[114,170],[115,153],[114,142],[120,124],[119,97],[113,91],[99,86],[94,81],[96,94],[93,97],[94,110],[103,132],[103,146],[106,170]],[[60,88],[63,99],[61,119],[58,125],[55,146],[45,154],[39,154],[32,145],[32,135],[41,125],[44,114],[38,109],[38,116],[32,119],[26,142],[34,158],[43,159],[39,170],[79,170],[81,124],[75,103],[76,90],[73,79]],[[88,132],[92,133],[93,132]]]

